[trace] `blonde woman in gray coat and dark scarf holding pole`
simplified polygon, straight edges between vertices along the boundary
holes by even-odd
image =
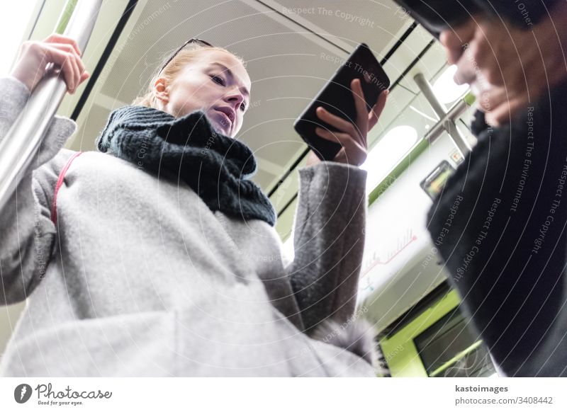
[[[0,138],[55,62],[69,91],[88,74],[77,45],[23,45],[1,79]],[[296,256],[283,261],[271,204],[235,139],[252,81],[242,60],[189,40],[98,151],[62,149],[55,118],[0,216],[2,304],[27,299],[1,360],[7,376],[373,376],[354,304],[364,244],[369,112],[330,113],[344,148],[300,171]],[[335,138],[320,132],[322,137]],[[270,139],[266,136],[266,139]]]

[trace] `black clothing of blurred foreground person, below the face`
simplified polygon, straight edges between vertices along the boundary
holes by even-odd
[[[510,127],[477,130],[428,216],[449,282],[508,376],[567,376],[565,96],[567,83]]]

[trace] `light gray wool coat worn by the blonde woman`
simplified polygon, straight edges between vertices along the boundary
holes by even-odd
[[[26,86],[0,79],[0,139]],[[0,304],[27,300],[3,376],[372,377],[313,330],[347,333],[364,238],[366,172],[302,168],[293,262],[273,227],[211,212],[183,182],[98,151],[62,149],[56,117],[0,214]]]

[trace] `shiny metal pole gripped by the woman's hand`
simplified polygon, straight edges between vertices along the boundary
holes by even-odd
[[[101,4],[102,0],[82,0],[74,7],[63,34],[76,40],[80,50],[85,50],[89,42]],[[30,94],[26,109],[0,142],[0,210],[4,209],[32,163],[66,91],[62,74],[51,64]]]

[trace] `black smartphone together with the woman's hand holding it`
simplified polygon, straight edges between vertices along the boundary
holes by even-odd
[[[319,159],[360,164],[356,158],[361,155],[358,153],[361,149],[366,156],[366,132],[374,126],[386,103],[386,94],[380,100],[378,96],[389,86],[388,76],[363,43],[293,126]],[[338,157],[351,154],[351,159],[335,159],[337,154]]]

